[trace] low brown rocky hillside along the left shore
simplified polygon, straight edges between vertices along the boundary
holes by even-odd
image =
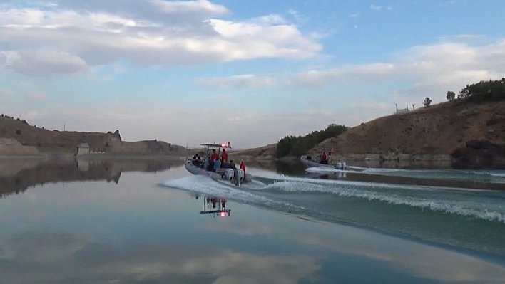
[[[0,117],[0,155],[36,155],[40,153],[75,154],[81,143],[91,152],[116,155],[177,154],[185,148],[150,140],[124,142],[119,131],[72,132],[45,130],[29,125],[25,120]]]

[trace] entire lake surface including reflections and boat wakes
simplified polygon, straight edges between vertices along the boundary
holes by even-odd
[[[0,161],[0,283],[505,283],[505,191],[248,171],[235,189],[183,161]]]

